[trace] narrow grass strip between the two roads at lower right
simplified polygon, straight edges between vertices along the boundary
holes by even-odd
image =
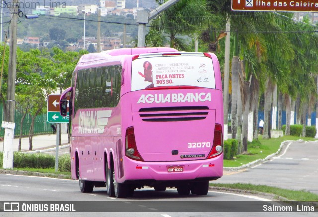
[[[305,190],[295,191],[295,190],[288,190],[288,189],[277,188],[277,187],[270,187],[267,185],[253,185],[253,184],[242,184],[242,183],[210,184],[210,186],[248,190],[255,193],[264,192],[268,194],[274,194],[274,195],[286,198],[287,200],[293,200],[293,201],[318,201],[318,194],[310,193]]]

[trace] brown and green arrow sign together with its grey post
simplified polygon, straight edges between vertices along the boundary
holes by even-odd
[[[47,121],[49,123],[57,123],[56,127],[56,148],[55,148],[55,172],[58,171],[59,163],[59,138],[60,138],[60,123],[69,123],[69,112],[67,116],[60,115],[60,96],[59,94],[48,95],[48,113]],[[69,97],[68,99],[69,100]],[[69,103],[67,105],[67,111],[69,111]]]

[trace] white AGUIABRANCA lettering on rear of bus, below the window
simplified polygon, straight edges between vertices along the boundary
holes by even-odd
[[[211,93],[172,93],[172,94],[143,94],[138,100],[139,103],[175,103],[175,102],[211,102]]]

